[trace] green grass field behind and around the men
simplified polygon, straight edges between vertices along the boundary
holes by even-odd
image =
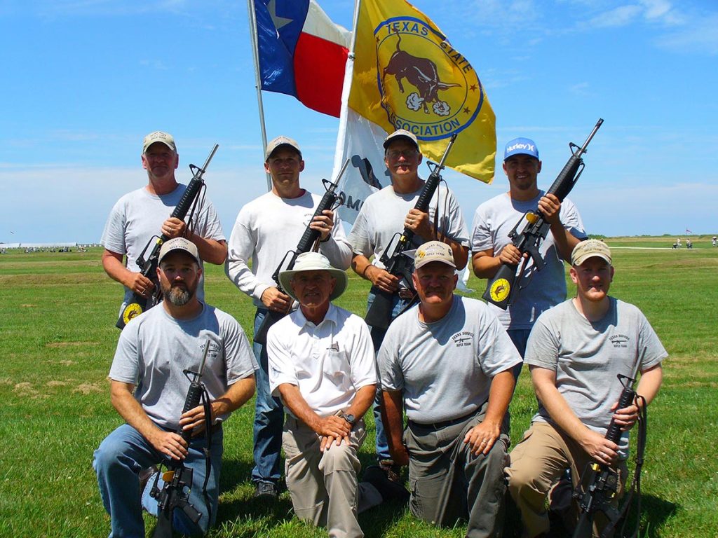
[[[673,238],[613,238],[612,295],[648,316],[671,357],[648,415],[643,473],[643,535],[718,535],[718,248],[707,237],[693,250]],[[485,283],[472,277],[472,296]],[[363,314],[365,281],[351,275],[338,303]],[[569,289],[571,289],[569,287]],[[250,301],[209,266],[208,301],[251,327]],[[100,250],[0,255],[0,537],[102,537],[109,518],[90,466],[93,450],[121,418],[106,379],[118,338],[120,285],[103,273]],[[536,405],[528,372],[511,404],[514,443]],[[274,506],[251,499],[253,406],[225,426],[220,509],[212,537],[324,537],[292,516],[285,493]],[[370,428],[373,425],[370,425]],[[371,462],[373,431],[363,447]],[[148,520],[149,522],[149,520]],[[465,527],[435,529],[403,509],[360,516],[367,537],[462,537]],[[148,524],[151,530],[153,524]]]

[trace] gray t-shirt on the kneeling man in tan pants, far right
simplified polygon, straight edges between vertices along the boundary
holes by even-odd
[[[524,362],[556,372],[556,388],[579,420],[605,435],[623,387],[617,374],[635,378],[637,372],[660,364],[666,349],[636,306],[610,298],[600,321],[590,322],[564,301],[543,313],[533,326]],[[554,424],[539,404],[534,421]],[[628,451],[628,432],[620,448]]]

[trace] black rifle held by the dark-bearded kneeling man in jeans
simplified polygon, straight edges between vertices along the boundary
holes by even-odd
[[[190,379],[190,389],[187,390],[187,398],[185,398],[185,407],[182,408],[182,415],[190,409],[194,409],[197,405],[200,405],[200,400],[204,400],[205,405],[205,435],[207,436],[207,448],[205,449],[205,458],[208,462],[208,472],[205,476],[205,488],[207,486],[207,478],[209,477],[209,463],[210,463],[210,435],[212,428],[212,411],[209,405],[209,397],[206,395],[205,387],[202,386],[200,379],[202,379],[202,372],[205,369],[205,361],[207,360],[207,354],[210,350],[210,340],[208,339],[205,345],[204,354],[202,354],[202,362],[200,363],[200,369],[197,372],[192,372],[190,369],[186,369],[183,373]],[[190,377],[190,375],[192,377]],[[204,398],[202,398],[204,397]],[[192,430],[183,430],[182,426],[177,430],[177,433],[182,435],[182,439],[187,441],[187,445],[190,444],[192,438]],[[159,474],[154,480],[154,484],[150,491],[150,495],[157,499],[157,506],[159,508],[157,513],[157,527],[154,529],[154,538],[172,538],[172,514],[175,508],[179,508],[185,512],[188,518],[193,523],[200,521],[202,514],[198,511],[195,506],[190,504],[189,491],[185,493],[185,488],[192,488],[192,474],[191,468],[185,467],[183,461],[178,463],[172,463],[162,475],[164,486],[159,489],[157,486]],[[210,503],[207,503],[208,510],[211,510]],[[210,518],[211,519],[211,518]]]

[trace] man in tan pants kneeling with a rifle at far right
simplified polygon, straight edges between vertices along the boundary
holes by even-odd
[[[617,409],[623,388],[616,376],[633,378],[640,372],[636,392],[648,405],[661,387],[661,361],[668,356],[643,313],[608,295],[613,267],[605,243],[589,239],[574,247],[571,280],[576,296],[542,313],[526,346],[524,362],[531,368],[539,406],[531,428],[511,452],[506,473],[527,538],[549,536],[546,497],[567,468],[576,489],[589,463],[610,466],[620,478],[617,503],[628,470],[628,430],[638,419],[638,406]],[[623,430],[617,444],[605,437],[611,420]],[[566,518],[572,527],[578,507],[570,494],[561,499],[567,489],[559,481],[551,508],[573,504],[569,514],[575,513]],[[595,536],[605,524],[597,515]]]

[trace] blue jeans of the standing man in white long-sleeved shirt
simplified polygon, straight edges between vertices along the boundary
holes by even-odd
[[[257,308],[254,315],[254,334],[266,316],[265,308]],[[281,400],[269,392],[269,367],[264,346],[256,342],[252,346],[254,357],[259,364],[255,372],[256,405],[254,407],[254,468],[252,481],[276,484],[281,477],[279,467],[281,433],[284,430],[284,406]]]

